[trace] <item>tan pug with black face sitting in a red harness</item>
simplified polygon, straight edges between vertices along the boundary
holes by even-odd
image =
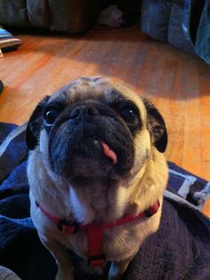
[[[166,124],[149,100],[102,77],[46,96],[28,121],[31,218],[74,279],[69,250],[120,279],[158,229],[168,177]]]

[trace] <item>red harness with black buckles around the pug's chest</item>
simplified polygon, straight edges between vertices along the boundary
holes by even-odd
[[[75,222],[69,222],[68,220],[59,219],[53,216],[51,213],[46,212],[42,205],[36,202],[36,206],[44,212],[44,215],[57,224],[57,227],[61,232],[70,235],[77,233],[79,230],[85,230],[88,238],[88,263],[91,267],[102,267],[106,263],[106,256],[103,253],[103,231],[107,228],[115,228],[117,226],[124,225],[126,223],[139,220],[141,218],[149,218],[158,212],[159,201],[157,200],[152,204],[149,209],[141,212],[137,215],[125,215],[121,219],[107,222],[107,223],[93,223],[83,225]]]

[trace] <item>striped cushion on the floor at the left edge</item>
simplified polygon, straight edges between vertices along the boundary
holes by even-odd
[[[7,30],[0,28],[0,49],[8,52],[17,49],[22,41],[12,36]]]

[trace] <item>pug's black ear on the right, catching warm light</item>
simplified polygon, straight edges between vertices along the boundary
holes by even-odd
[[[167,146],[167,131],[163,116],[149,100],[142,99],[148,113],[148,126],[152,135],[154,146],[159,152],[164,153]]]

